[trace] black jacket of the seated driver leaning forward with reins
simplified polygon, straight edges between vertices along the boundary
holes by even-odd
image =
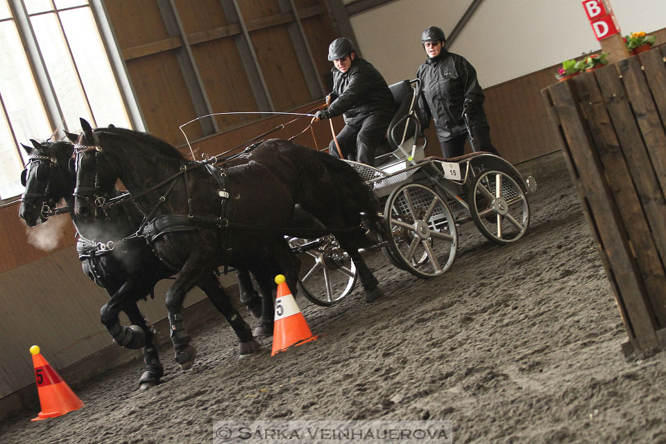
[[[332,72],[332,116],[344,113],[345,123],[358,126],[370,114],[385,115],[389,120],[393,118],[395,102],[391,89],[370,62],[355,56],[347,72],[343,74],[336,67]]]

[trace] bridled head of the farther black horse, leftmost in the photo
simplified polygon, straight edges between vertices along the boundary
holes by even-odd
[[[28,163],[21,173],[26,191],[21,198],[19,216],[33,227],[49,219],[62,198],[71,196],[75,176],[69,169],[74,151],[71,143],[65,140],[40,143],[33,139],[31,143],[33,146],[22,144],[28,153]]]

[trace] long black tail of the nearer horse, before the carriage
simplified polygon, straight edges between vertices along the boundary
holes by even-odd
[[[349,214],[363,213],[370,230],[379,234],[382,239],[391,237],[384,220],[379,215],[379,200],[370,187],[366,185],[361,175],[347,162],[325,153],[318,154],[321,154],[325,166],[334,180],[333,192],[336,192],[339,200],[343,203],[344,211]],[[362,232],[359,232],[359,235],[363,237],[364,241],[361,244],[366,244],[364,246],[374,244]],[[360,238],[358,240],[361,241]],[[367,245],[368,240],[371,242],[370,245]]]

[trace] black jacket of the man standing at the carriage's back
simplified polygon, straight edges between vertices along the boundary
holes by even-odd
[[[442,52],[428,58],[418,68],[423,97],[419,100],[422,123],[428,126],[434,117],[437,137],[449,140],[467,133],[463,113],[468,113],[470,127],[488,127],[484,112],[484,91],[477,80],[477,71],[463,56]]]

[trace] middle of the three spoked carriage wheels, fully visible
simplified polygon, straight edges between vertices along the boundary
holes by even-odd
[[[432,189],[401,185],[386,200],[384,220],[393,236],[388,252],[400,268],[419,278],[447,271],[458,249],[458,233],[449,206]]]

